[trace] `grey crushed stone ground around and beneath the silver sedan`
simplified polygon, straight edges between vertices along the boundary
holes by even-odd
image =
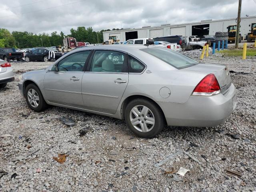
[[[183,53],[199,60],[201,50]],[[30,110],[18,76],[52,62],[12,62],[15,80],[0,89],[0,191],[255,191],[256,58],[210,54],[203,61],[228,66],[238,96],[233,114],[215,128],[166,127],[153,139],[136,137],[114,118]],[[63,117],[76,125],[63,124]],[[172,178],[180,167],[189,171]]]

